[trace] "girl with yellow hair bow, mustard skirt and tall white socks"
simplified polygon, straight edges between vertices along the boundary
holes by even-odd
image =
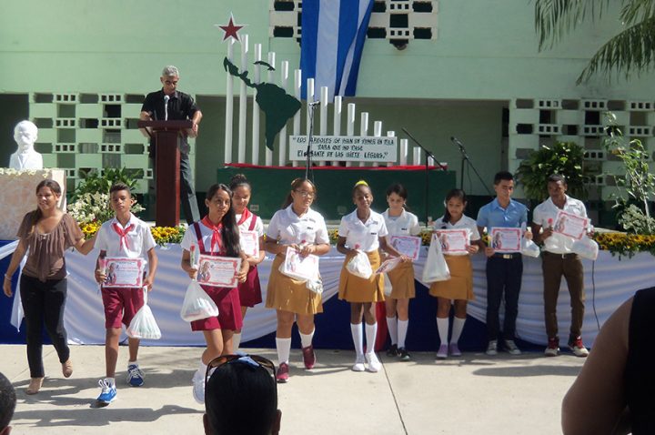
[[[386,251],[392,257],[408,258],[387,243],[387,225],[384,217],[371,210],[373,194],[366,181],[358,181],[352,192],[353,202],[357,209],[341,218],[338,229],[337,249],[346,255],[341,276],[339,278],[339,299],[350,302],[350,331],[355,344],[357,359],[353,365],[354,371],[364,371],[364,362],[368,363],[368,371],[381,369],[375,354],[375,341],[378,333],[378,323],[375,316],[375,302],[384,300],[384,280],[381,275],[373,274],[370,278],[359,278],[346,268],[348,261],[363,251],[368,256],[371,268],[375,271],[380,265],[378,249]],[[362,317],[366,320],[367,353],[364,355],[364,337],[362,335]]]

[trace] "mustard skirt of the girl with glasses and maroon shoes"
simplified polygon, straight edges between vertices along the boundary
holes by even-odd
[[[280,254],[273,260],[267,286],[267,309],[279,309],[296,314],[323,312],[321,296],[307,288],[306,281],[289,278],[279,271],[284,261]]]

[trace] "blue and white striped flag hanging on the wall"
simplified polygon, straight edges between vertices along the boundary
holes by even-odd
[[[315,79],[315,93],[328,86],[330,101],[354,96],[359,62],[373,0],[303,0],[300,69],[302,97],[307,78]]]

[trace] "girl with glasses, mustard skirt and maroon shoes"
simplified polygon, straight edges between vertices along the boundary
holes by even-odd
[[[287,201],[268,224],[264,243],[267,252],[276,255],[268,278],[266,306],[267,309],[277,310],[277,382],[287,382],[289,378],[288,360],[294,321],[300,333],[305,369],[314,368],[316,363],[312,339],[314,315],[323,312],[321,296],[307,288],[307,281],[289,278],[279,271],[287,248],[296,249],[301,256],[320,256],[329,252],[325,220],[310,208],[316,193],[316,187],[310,180],[293,180]]]

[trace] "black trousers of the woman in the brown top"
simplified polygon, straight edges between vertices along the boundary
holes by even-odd
[[[43,378],[43,327],[47,331],[62,364],[70,357],[64,329],[66,279],[48,279],[21,275],[21,300],[25,311],[27,363],[31,378]]]

